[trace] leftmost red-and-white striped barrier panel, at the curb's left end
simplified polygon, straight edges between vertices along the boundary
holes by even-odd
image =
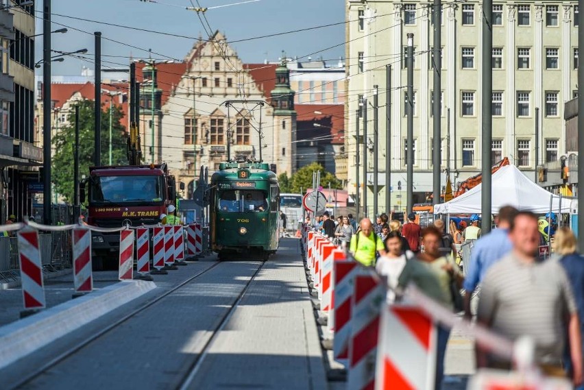
[[[38,231],[31,228],[20,230],[19,260],[25,310],[45,308],[45,284],[42,280],[42,265],[38,245]]]

